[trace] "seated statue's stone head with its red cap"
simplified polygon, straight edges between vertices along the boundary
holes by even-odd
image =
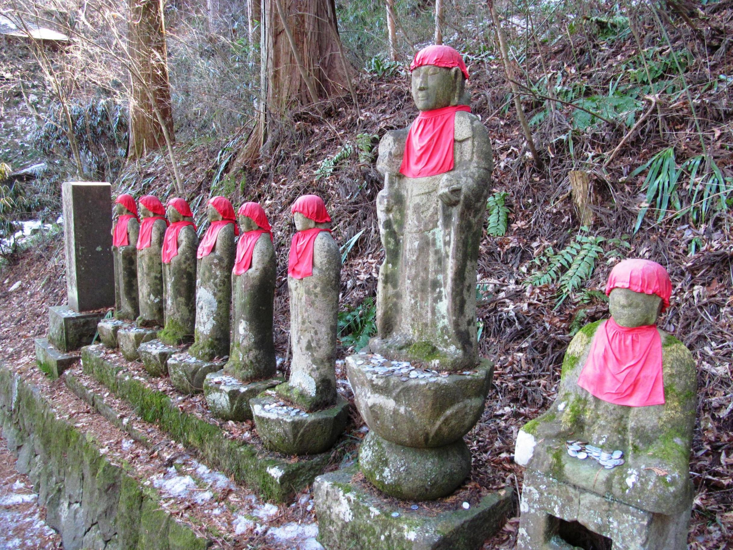
[[[666,269],[651,260],[619,262],[605,287],[611,317],[621,326],[653,325],[669,306],[672,283]]]

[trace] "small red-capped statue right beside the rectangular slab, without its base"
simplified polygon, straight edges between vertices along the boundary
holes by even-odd
[[[112,230],[114,255],[114,316],[135,320],[138,316],[138,275],[136,243],[139,220],[135,199],[122,194],[114,201],[117,223]]]

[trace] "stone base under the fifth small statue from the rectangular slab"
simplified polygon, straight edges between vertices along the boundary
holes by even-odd
[[[281,383],[282,378],[270,378],[244,384],[237,378],[226,375],[224,370],[220,370],[218,373],[206,375],[204,395],[206,404],[215,417],[243,422],[252,419],[249,400]]]

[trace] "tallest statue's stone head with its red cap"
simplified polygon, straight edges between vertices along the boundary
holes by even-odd
[[[450,46],[430,45],[421,49],[410,70],[413,100],[420,111],[468,104],[468,69],[461,55]]]

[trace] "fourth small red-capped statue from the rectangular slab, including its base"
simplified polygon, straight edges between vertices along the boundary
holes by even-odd
[[[168,359],[171,384],[185,393],[202,392],[206,375],[221,370],[229,356],[232,268],[239,228],[232,203],[224,197],[209,199],[207,216],[210,224],[196,252],[194,343],[188,352]]]

